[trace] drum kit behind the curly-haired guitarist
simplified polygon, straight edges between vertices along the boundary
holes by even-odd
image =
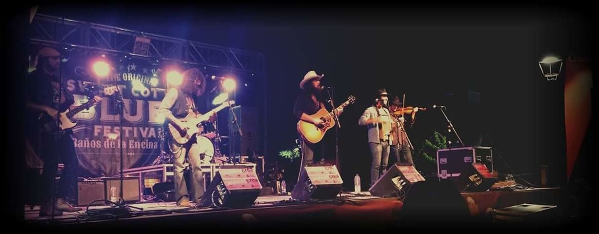
[[[223,157],[220,153],[220,142],[222,138],[228,138],[228,136],[221,136],[219,134],[216,121],[203,121],[199,124],[201,131],[196,135],[195,141],[200,148],[199,157],[202,163],[225,163],[229,162],[229,159]],[[158,139],[160,144],[160,155],[156,157],[156,160],[152,165],[159,165],[165,163],[173,163],[173,156],[165,152],[164,149],[164,129],[158,129]]]

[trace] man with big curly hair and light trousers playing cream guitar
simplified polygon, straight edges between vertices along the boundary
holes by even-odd
[[[186,117],[189,113],[198,112],[195,107],[195,99],[204,93],[205,83],[206,78],[199,69],[192,68],[183,72],[183,83],[179,87],[171,87],[167,91],[160,104],[159,113],[164,115],[165,120],[169,123],[187,130],[188,127],[184,127],[179,119]],[[215,115],[212,112],[211,114],[213,115],[211,118],[213,118]],[[165,132],[168,132],[168,130]],[[177,205],[192,206],[190,195],[187,193],[186,181],[183,178],[185,157],[189,158],[192,169],[193,199],[196,204],[199,204],[205,188],[200,167],[200,148],[196,143],[196,136],[194,135],[186,144],[181,145],[174,141],[173,136],[168,134],[167,142],[174,159],[174,184]]]

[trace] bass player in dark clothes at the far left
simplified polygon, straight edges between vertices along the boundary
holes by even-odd
[[[37,65],[35,71],[27,78],[27,101],[26,108],[31,117],[30,123],[37,123],[41,113],[52,117],[58,117],[59,113],[68,110],[74,103],[74,96],[66,89],[66,83],[60,87],[60,53],[54,48],[42,48],[37,54]],[[93,101],[101,101],[99,96],[94,96]],[[75,145],[71,138],[70,129],[56,133],[46,133],[35,124],[28,124],[28,139],[33,145],[40,145],[40,158],[44,161],[41,187],[40,216],[62,215],[62,212],[80,211],[68,203],[66,197],[69,187],[77,182],[77,168],[79,160],[75,153]],[[58,170],[59,158],[65,165],[60,176],[56,200],[52,202],[54,195],[53,186],[55,174]]]

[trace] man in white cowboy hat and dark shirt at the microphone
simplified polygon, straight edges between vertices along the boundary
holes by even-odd
[[[323,89],[320,86],[320,79],[322,79],[324,75],[317,75],[315,71],[309,71],[304,75],[304,79],[299,82],[299,88],[303,90],[303,92],[298,96],[295,100],[294,105],[294,115],[299,120],[307,121],[308,123],[313,123],[316,126],[323,126],[324,122],[320,118],[310,117],[312,114],[316,114],[320,109],[325,109],[325,104],[323,102]],[[337,115],[343,113],[343,108],[337,109]],[[299,173],[304,169],[304,166],[307,164],[311,164],[314,162],[314,153],[319,154],[319,157],[322,158],[323,154],[323,144],[322,141],[316,144],[311,144],[310,142],[304,141],[304,139],[299,136],[301,141],[301,150],[302,150],[302,161],[299,169]],[[298,177],[299,180],[299,177]]]

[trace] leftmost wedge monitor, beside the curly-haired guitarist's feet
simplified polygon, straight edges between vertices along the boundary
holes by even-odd
[[[220,166],[202,196],[203,206],[251,206],[260,195],[262,185],[252,166]]]

